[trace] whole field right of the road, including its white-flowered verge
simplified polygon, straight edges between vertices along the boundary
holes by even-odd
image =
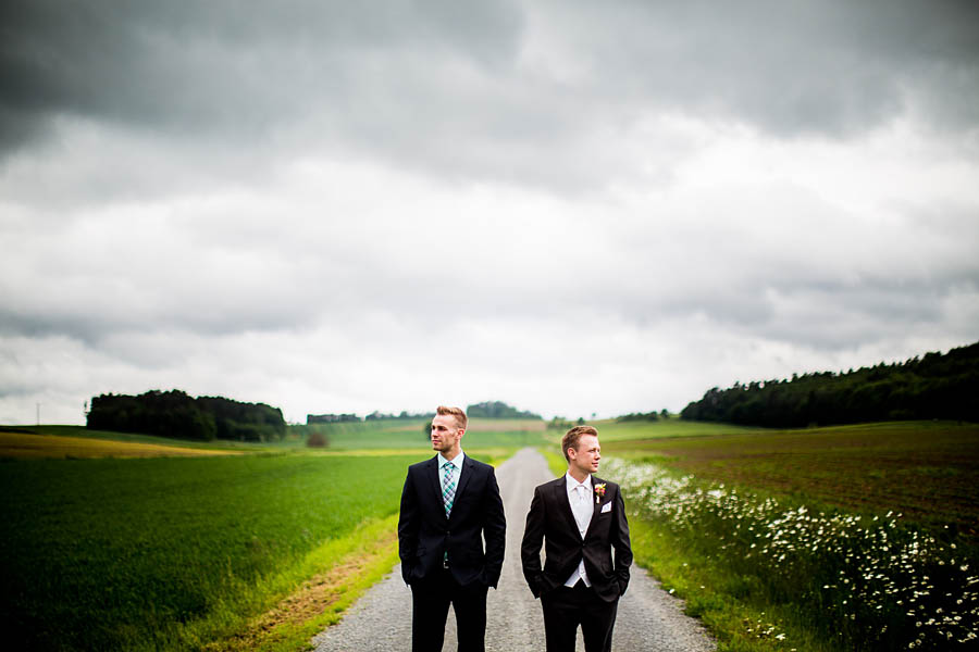
[[[976,644],[979,425],[622,426],[603,472],[636,560],[720,651]]]

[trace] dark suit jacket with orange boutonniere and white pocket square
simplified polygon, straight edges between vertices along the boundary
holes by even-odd
[[[603,600],[611,602],[629,586],[632,547],[625,503],[615,482],[592,476],[592,487],[605,484],[605,496],[593,503],[592,521],[584,540],[574,522],[565,476],[545,482],[534,490],[523,530],[520,556],[523,576],[534,598],[563,584],[584,557],[585,572],[592,588]],[[594,499],[593,499],[594,500]],[[611,505],[603,512],[605,505]],[[541,567],[541,541],[545,541],[546,562]],[[612,550],[616,552],[612,561]]]

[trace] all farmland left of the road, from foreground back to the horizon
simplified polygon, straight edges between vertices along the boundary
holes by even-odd
[[[306,447],[305,426],[265,443],[0,428],[8,640],[40,650],[301,648],[354,595],[333,606],[318,599],[301,623],[288,607],[278,642],[259,642],[269,613],[313,575],[356,593],[391,568],[407,465],[433,454],[422,425],[313,426],[327,435],[323,449]],[[540,421],[470,425],[466,450],[490,463],[544,440]],[[176,454],[201,456],[122,459]],[[374,570],[327,577],[358,550],[374,551]]]

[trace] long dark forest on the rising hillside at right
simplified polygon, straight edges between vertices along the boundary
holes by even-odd
[[[979,342],[847,373],[714,387],[680,416],[776,428],[921,418],[979,422]]]

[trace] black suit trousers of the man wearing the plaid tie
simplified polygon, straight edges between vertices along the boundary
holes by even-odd
[[[486,593],[490,587],[474,581],[461,586],[448,569],[411,584],[411,651],[442,652],[449,604],[456,612],[459,652],[486,649]]]

